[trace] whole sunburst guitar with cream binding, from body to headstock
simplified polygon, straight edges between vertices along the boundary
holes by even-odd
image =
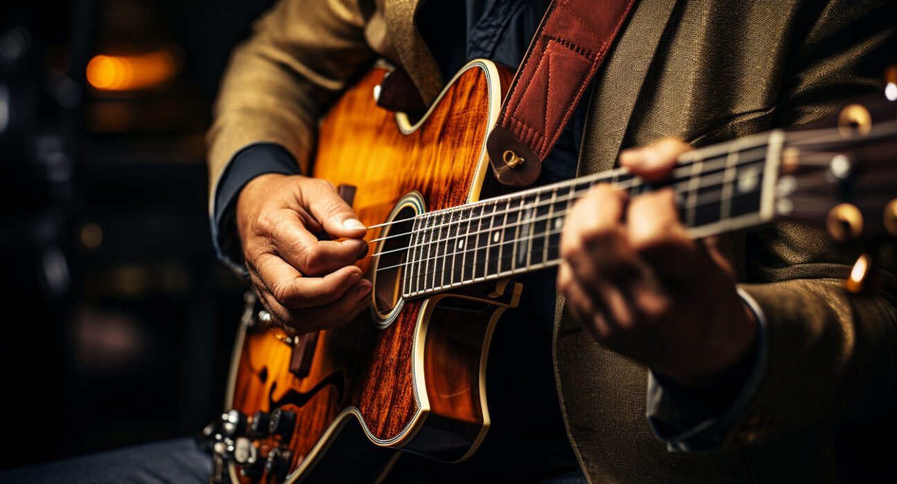
[[[658,186],[614,169],[486,198],[497,191],[485,139],[510,73],[472,62],[412,122],[377,105],[388,72],[375,67],[330,109],[314,163],[370,228],[358,263],[373,282],[370,311],[290,338],[247,296],[228,411],[204,430],[213,480],[376,481],[398,451],[464,461],[489,429],[486,357],[520,298],[512,278],[559,263],[564,217],[591,186]],[[693,238],[776,217],[820,224],[840,241],[897,236],[895,112],[851,105],[839,127],[691,151],[660,185],[674,188]],[[866,281],[864,257],[851,290]]]

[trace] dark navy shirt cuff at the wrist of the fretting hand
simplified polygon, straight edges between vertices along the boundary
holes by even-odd
[[[651,428],[671,451],[710,450],[722,445],[736,427],[757,393],[765,374],[769,353],[766,318],[762,309],[745,291],[738,295],[757,320],[757,343],[753,358],[746,359],[723,385],[734,388],[696,390],[674,380],[650,373],[647,413]],[[719,400],[719,395],[728,395]]]

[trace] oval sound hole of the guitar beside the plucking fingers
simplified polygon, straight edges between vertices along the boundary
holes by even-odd
[[[411,206],[405,206],[393,219],[396,223],[388,225],[380,237],[386,238],[379,247],[379,258],[375,264],[374,308],[380,317],[386,319],[389,313],[402,299],[404,284],[405,256],[411,244],[412,219],[417,212]],[[402,221],[404,220],[404,221]]]

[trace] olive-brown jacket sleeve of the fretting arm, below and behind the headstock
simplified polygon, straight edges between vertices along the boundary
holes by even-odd
[[[772,124],[805,125],[851,98],[881,92],[884,67],[895,51],[895,10],[893,2],[826,4],[788,55]],[[658,436],[673,449],[748,445],[845,428],[892,411],[897,403],[893,241],[874,253],[878,290],[871,296],[844,289],[858,252],[833,246],[821,229],[779,221],[748,234],[743,252],[745,283],[739,290],[764,316],[766,347],[757,365],[762,374],[749,379],[732,407],[686,426],[677,421],[675,396],[652,381],[649,418],[656,430],[658,422],[666,429]],[[726,425],[718,425],[720,419]]]

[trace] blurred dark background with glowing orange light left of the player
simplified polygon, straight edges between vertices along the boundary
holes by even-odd
[[[0,10],[0,469],[188,436],[223,408],[245,286],[204,134],[271,0]]]

